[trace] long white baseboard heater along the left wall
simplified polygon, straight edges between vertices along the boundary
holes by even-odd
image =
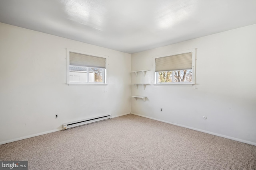
[[[98,122],[98,121],[108,120],[108,119],[111,119],[111,117],[112,117],[112,115],[103,115],[103,116],[100,116],[100,117],[92,117],[92,118],[89,118],[89,119],[83,119],[83,120],[79,120],[79,121],[73,121],[73,122],[70,122],[70,123],[64,123],[63,124],[63,130],[70,129],[70,128],[73,128],[73,127],[87,125],[87,124],[90,124],[90,123],[95,123],[95,122]]]

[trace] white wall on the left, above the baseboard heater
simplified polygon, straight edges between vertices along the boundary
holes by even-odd
[[[108,56],[108,85],[68,86],[65,48]],[[130,113],[130,71],[130,54],[0,23],[0,144]]]

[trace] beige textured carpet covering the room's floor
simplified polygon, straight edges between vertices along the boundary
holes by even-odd
[[[256,170],[256,146],[125,115],[0,145],[29,170]]]

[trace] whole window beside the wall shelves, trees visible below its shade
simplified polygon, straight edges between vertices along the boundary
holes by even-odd
[[[195,52],[196,49],[154,57],[155,84],[195,84]]]

